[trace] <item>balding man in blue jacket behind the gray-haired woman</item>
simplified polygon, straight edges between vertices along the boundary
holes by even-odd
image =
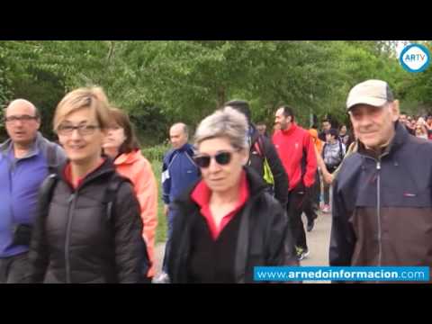
[[[164,213],[168,220],[163,266],[165,274],[162,274],[158,281],[166,279],[166,256],[169,253],[174,214],[170,211],[169,204],[200,177],[200,169],[193,162],[193,146],[187,142],[189,139],[187,126],[182,122],[175,123],[169,130],[169,139],[173,148],[166,153],[162,166],[162,199]]]

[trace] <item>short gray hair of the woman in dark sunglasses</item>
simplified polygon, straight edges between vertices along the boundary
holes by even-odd
[[[194,144],[203,140],[227,138],[233,148],[249,149],[246,116],[231,107],[220,109],[204,118],[195,131]]]

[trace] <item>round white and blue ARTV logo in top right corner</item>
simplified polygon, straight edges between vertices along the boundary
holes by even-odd
[[[401,51],[401,65],[409,72],[424,71],[430,63],[429,49],[420,44],[411,44]]]

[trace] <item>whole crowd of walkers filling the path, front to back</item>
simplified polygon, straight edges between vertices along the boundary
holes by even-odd
[[[382,80],[347,95],[350,127],[310,129],[275,109],[274,133],[232,100],[169,130],[167,241],[156,277],[157,179],[124,111],[100,87],[58,103],[58,143],[24,99],[4,109],[0,283],[253,283],[301,266],[306,231],[332,215],[330,266],[432,266],[432,115],[408,116]],[[302,214],[306,216],[306,230]]]

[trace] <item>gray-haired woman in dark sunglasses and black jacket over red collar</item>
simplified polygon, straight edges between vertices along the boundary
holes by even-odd
[[[297,265],[283,208],[246,166],[246,117],[214,112],[195,146],[202,180],[172,203],[171,283],[253,283],[254,266]]]

